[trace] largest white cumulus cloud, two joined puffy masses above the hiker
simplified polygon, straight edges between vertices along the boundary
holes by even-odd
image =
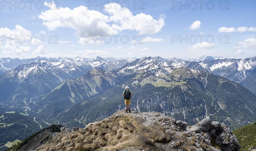
[[[47,3],[45,5],[49,6]],[[55,30],[58,27],[72,28],[76,30],[79,38],[84,38],[86,35],[113,35],[122,30],[154,34],[165,25],[164,15],[160,15],[156,20],[151,15],[143,13],[133,15],[129,9],[122,9],[119,4],[115,5],[116,8],[110,7],[111,9],[104,10],[108,15],[79,6],[74,9],[60,7],[58,11],[50,9],[42,12],[38,17],[44,21],[43,25],[49,30]],[[109,6],[105,7],[109,8]]]

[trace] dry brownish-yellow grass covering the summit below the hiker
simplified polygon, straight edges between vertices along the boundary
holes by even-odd
[[[79,131],[61,132],[61,136],[54,137],[37,151],[117,151],[124,148],[159,151],[166,149],[156,144],[164,146],[171,143],[172,139],[175,140],[175,150],[194,151],[196,138],[187,140],[187,135],[182,132],[179,135],[174,131],[166,133],[166,129],[170,128],[164,128],[158,122],[158,119],[162,118],[158,118],[159,116],[161,115],[152,118],[157,122],[156,124],[148,126],[143,125],[143,122],[147,122],[145,118],[131,117],[131,114],[121,113],[118,117],[110,116],[100,122],[91,123]],[[170,118],[161,120],[171,125]],[[201,146],[207,148],[204,144]]]

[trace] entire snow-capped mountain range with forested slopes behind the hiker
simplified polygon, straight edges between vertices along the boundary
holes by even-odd
[[[122,110],[125,85],[138,112],[188,125],[209,116],[231,129],[256,121],[256,57],[1,58],[0,64],[1,111],[19,109],[47,125],[84,128]]]

